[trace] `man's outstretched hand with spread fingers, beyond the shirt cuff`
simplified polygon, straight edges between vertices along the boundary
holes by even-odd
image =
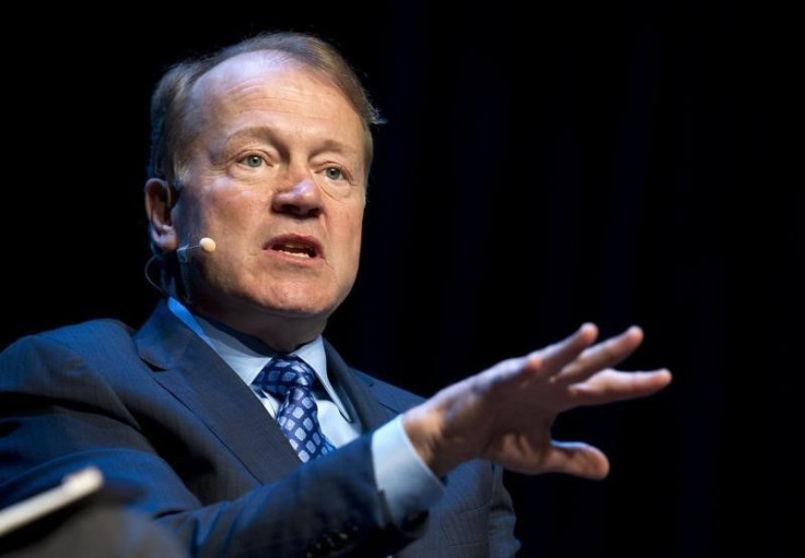
[[[670,383],[670,372],[611,368],[640,346],[640,328],[593,344],[597,335],[598,329],[585,323],[559,343],[440,391],[402,417],[413,447],[440,476],[481,458],[520,473],[604,478],[609,462],[600,450],[551,438],[557,415],[651,395]]]

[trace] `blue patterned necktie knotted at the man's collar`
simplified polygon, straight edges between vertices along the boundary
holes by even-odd
[[[254,381],[280,401],[277,423],[303,463],[336,449],[318,424],[318,408],[311,393],[314,380],[307,363],[295,355],[277,355]]]

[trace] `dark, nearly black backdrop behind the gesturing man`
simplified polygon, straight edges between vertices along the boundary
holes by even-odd
[[[603,335],[642,325],[622,367],[675,373],[658,395],[557,422],[558,439],[609,455],[606,480],[508,477],[523,556],[795,554],[781,509],[798,503],[803,372],[790,16],[429,4],[22,7],[4,23],[24,33],[3,67],[2,346],[147,317],[151,87],[246,34],[313,32],[388,120],[361,274],[328,328],[351,364],[429,395],[590,320]]]

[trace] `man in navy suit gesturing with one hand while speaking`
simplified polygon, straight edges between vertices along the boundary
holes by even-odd
[[[502,467],[606,476],[600,451],[550,426],[667,385],[667,370],[610,368],[638,328],[595,344],[584,324],[428,401],[323,339],[358,272],[377,121],[305,35],[166,73],[145,185],[166,300],[139,331],[97,320],[3,353],[0,504],[92,464],[192,555],[513,556]]]

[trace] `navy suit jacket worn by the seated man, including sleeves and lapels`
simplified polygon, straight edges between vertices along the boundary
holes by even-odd
[[[164,302],[139,331],[93,320],[23,337],[0,355],[0,507],[92,464],[194,556],[514,556],[511,498],[486,461],[447,475],[428,513],[392,524],[370,432],[422,400],[325,348],[368,434],[302,465]]]

